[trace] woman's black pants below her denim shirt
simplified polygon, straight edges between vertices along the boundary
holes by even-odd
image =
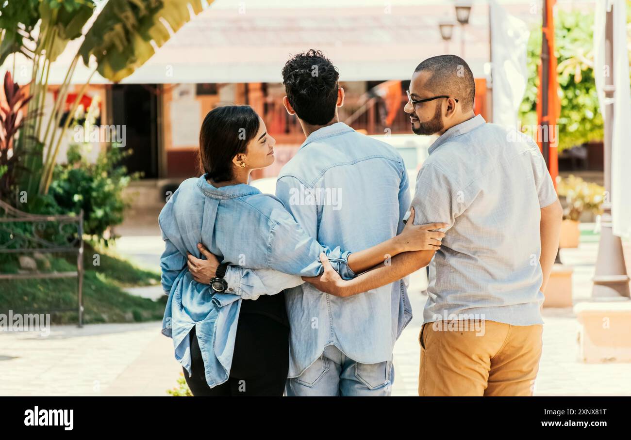
[[[206,383],[195,327],[191,338],[192,376],[184,369],[194,396],[282,396],[289,369],[289,327],[265,315],[241,313],[230,377],[213,388]]]

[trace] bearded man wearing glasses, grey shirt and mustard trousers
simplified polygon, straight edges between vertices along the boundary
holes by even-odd
[[[449,224],[430,263],[418,392],[528,396],[562,209],[533,139],[487,124],[473,112],[474,97],[466,62],[440,55],[416,67],[404,108],[415,134],[439,135],[416,180],[414,223]],[[410,274],[419,261],[403,253],[351,281],[326,265],[307,281],[351,296]]]

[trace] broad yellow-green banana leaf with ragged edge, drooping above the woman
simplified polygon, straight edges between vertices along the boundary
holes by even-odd
[[[121,81],[153,56],[152,41],[157,47],[168,41],[163,20],[173,32],[191,20],[189,5],[194,14],[203,9],[201,0],[109,0],[79,49],[83,63],[94,55],[104,78]]]

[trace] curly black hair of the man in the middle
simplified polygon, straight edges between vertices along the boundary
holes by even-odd
[[[326,125],[335,116],[339,72],[320,50],[294,55],[283,67],[289,103],[307,124]]]

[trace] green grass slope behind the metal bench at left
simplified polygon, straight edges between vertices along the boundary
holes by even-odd
[[[25,254],[32,256],[31,254]],[[95,258],[98,255],[98,258]],[[45,255],[36,260],[38,270],[58,272],[76,270],[76,257]],[[3,255],[0,273],[16,273],[19,269],[16,256]],[[161,320],[166,296],[160,301],[139,298],[125,292],[125,287],[151,286],[160,283],[160,274],[139,269],[110,250],[85,244],[83,275],[84,323],[134,322]],[[98,265],[94,263],[97,262]],[[54,323],[78,321],[77,281],[68,279],[0,280],[0,313],[48,313]]]

